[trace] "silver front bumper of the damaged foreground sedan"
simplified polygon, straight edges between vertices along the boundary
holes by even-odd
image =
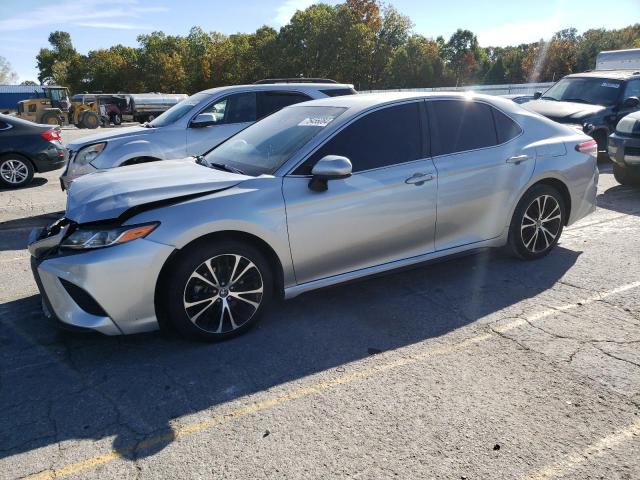
[[[173,250],[138,239],[82,253],[33,258],[45,314],[66,327],[106,335],[156,330],[155,286]]]

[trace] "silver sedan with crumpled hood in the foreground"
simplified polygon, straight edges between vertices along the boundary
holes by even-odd
[[[63,325],[225,339],[275,297],[484,247],[549,254],[595,209],[596,150],[496,97],[306,102],[198,160],[77,180],[32,233],[33,271]]]

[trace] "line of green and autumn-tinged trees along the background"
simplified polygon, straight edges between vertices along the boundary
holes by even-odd
[[[42,83],[73,92],[194,93],[273,77],[325,77],[357,89],[546,82],[594,68],[602,50],[640,47],[640,23],[617,30],[575,28],[548,41],[480,47],[459,29],[446,40],[415,33],[411,20],[379,0],[314,4],[279,30],[223,35],[193,27],[186,36],[153,32],[138,46],[80,54],[67,32],[37,56]]]

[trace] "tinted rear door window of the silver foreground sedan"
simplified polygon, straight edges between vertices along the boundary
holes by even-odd
[[[430,103],[433,155],[464,152],[497,144],[491,107],[470,100]]]

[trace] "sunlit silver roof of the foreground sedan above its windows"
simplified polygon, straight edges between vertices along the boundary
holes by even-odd
[[[304,103],[297,103],[287,108],[300,107],[343,107],[352,113],[367,110],[378,105],[385,105],[403,100],[482,100],[509,112],[520,111],[521,107],[511,100],[494,95],[483,95],[475,92],[381,92],[344,95],[341,97],[321,98]]]

